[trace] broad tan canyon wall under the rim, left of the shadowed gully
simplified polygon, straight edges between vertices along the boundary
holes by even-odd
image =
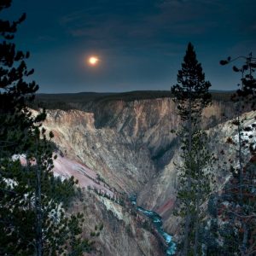
[[[155,162],[172,147],[170,128],[179,120],[170,112],[175,109],[170,99],[117,102],[114,107],[112,119],[102,113],[104,126],[96,125],[97,113],[79,110],[49,111],[44,125],[67,157],[82,161],[116,189],[135,193],[157,174]]]

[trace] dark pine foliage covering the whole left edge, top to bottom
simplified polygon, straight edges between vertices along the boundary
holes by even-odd
[[[10,5],[1,1],[0,11]],[[53,134],[41,127],[45,111],[34,117],[27,108],[38,85],[27,82],[33,73],[26,67],[29,54],[13,43],[25,18],[0,20],[0,254],[82,255],[91,246],[81,236],[83,215],[67,216],[78,189],[73,178],[54,177],[47,139]]]

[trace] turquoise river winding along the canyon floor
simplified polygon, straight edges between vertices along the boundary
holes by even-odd
[[[166,255],[174,255],[175,251],[176,251],[176,244],[172,241],[172,236],[167,234],[164,231],[163,222],[162,222],[162,218],[160,217],[160,215],[157,214],[156,212],[148,211],[148,210],[144,209],[143,207],[138,207],[136,195],[132,195],[130,197],[130,200],[133,205],[136,205],[137,211],[143,212],[143,214],[145,216],[147,216],[148,218],[151,219],[151,221],[154,224],[155,229],[158,231],[160,236],[162,236],[164,238],[164,240],[166,241],[166,245],[167,245]]]

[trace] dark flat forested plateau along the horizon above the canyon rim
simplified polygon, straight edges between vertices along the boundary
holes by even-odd
[[[216,101],[230,101],[232,92],[212,91],[212,99]],[[63,94],[37,94],[35,101],[30,104],[31,108],[62,109],[83,109],[84,106],[93,103],[111,101],[133,102],[156,98],[171,98],[169,90],[136,90],[122,93],[63,93]]]

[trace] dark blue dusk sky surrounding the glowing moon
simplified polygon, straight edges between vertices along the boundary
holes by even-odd
[[[255,0],[14,0],[3,15],[26,12],[15,42],[31,52],[40,92],[170,90],[189,41],[212,89],[232,90],[239,76],[218,62],[256,53],[255,9]]]

